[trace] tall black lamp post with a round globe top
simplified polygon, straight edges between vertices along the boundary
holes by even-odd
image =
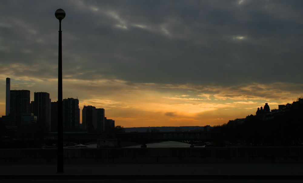
[[[57,172],[63,173],[63,109],[62,109],[62,31],[61,21],[65,17],[63,9],[57,9],[55,17],[59,20],[59,50],[58,50],[58,155]]]

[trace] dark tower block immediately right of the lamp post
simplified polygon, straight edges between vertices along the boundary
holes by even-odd
[[[63,99],[63,129],[78,129],[80,126],[79,100]]]

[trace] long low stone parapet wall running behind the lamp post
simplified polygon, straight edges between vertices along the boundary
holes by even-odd
[[[0,149],[0,164],[56,163],[57,149]],[[64,163],[303,163],[303,147],[64,149]]]

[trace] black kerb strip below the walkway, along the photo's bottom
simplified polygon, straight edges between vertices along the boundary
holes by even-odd
[[[0,175],[3,179],[73,179],[73,180],[303,180],[303,175]]]

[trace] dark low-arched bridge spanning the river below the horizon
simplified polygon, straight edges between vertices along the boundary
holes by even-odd
[[[57,133],[48,133],[44,137],[45,142],[57,142]],[[221,132],[130,132],[130,133],[63,133],[63,140],[69,142],[92,142],[98,139],[117,139],[117,142],[130,141],[142,144],[146,147],[146,143],[160,141],[176,141],[191,144],[198,142],[213,141],[221,137]]]

